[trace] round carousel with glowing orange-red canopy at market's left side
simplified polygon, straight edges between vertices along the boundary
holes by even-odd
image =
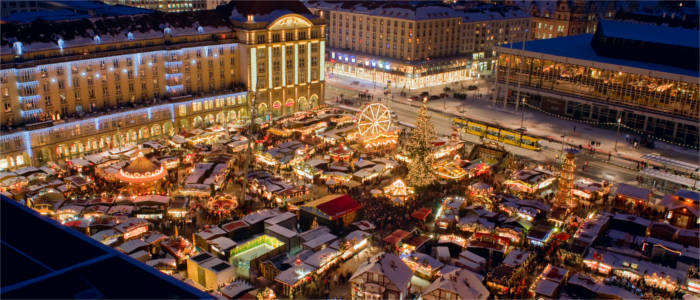
[[[159,163],[154,163],[143,156],[142,152],[128,164],[119,169],[116,174],[118,180],[138,187],[149,187],[163,179],[168,171]]]

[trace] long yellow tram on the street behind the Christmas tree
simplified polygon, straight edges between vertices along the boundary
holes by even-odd
[[[452,123],[466,131],[469,134],[484,137],[494,141],[500,141],[506,144],[518,146],[525,149],[540,151],[540,138],[521,134],[514,130],[501,129],[496,126],[486,125],[479,122],[469,121],[461,118],[455,118]]]

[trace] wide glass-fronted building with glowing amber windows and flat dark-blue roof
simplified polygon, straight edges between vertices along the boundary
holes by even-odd
[[[500,46],[496,101],[698,148],[697,41],[696,30],[601,21],[595,35]]]

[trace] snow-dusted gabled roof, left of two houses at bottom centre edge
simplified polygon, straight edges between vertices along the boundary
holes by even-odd
[[[350,280],[367,272],[386,276],[404,295],[408,292],[408,284],[413,276],[411,268],[393,253],[382,253],[363,263],[355,270]]]

